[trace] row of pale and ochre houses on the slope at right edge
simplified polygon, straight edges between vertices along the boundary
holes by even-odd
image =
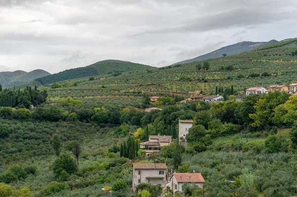
[[[251,87],[246,90],[246,95],[250,94],[264,94],[267,92],[274,92],[274,91],[280,91],[280,92],[287,92],[289,94],[293,94],[294,92],[297,92],[297,84],[291,84],[289,86],[287,85],[271,85],[267,89],[264,87]]]

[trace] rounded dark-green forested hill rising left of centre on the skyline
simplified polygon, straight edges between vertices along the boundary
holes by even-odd
[[[77,79],[81,77],[95,76],[95,75],[105,75],[126,71],[136,71],[145,70],[147,68],[152,68],[151,66],[132,63],[128,61],[120,60],[104,60],[91,64],[86,67],[73,68],[69,70],[64,70],[62,72],[42,77],[36,79],[42,84],[51,84],[58,81],[64,81],[69,79]]]

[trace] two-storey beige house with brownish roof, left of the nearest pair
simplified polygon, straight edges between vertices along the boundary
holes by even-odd
[[[141,183],[161,184],[163,188],[169,183],[169,174],[165,163],[133,163],[133,191]]]

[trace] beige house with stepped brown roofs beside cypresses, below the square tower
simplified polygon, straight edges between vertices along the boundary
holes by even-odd
[[[163,146],[168,146],[172,142],[171,136],[148,136],[148,142],[140,143],[140,148],[148,148],[149,152],[157,152]]]

